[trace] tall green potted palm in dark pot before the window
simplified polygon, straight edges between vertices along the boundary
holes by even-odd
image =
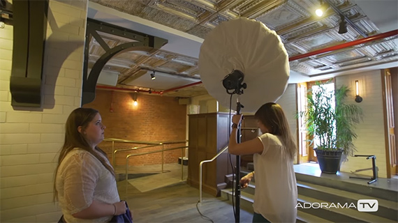
[[[330,83],[330,82],[327,82]],[[335,91],[329,91],[325,84],[316,82],[315,88],[307,93],[307,112],[304,116],[307,131],[313,139],[316,157],[320,170],[325,174],[336,174],[340,169],[341,156],[353,156],[356,148],[355,125],[362,121],[361,107],[347,104],[346,98],[350,91],[347,86],[341,86]]]

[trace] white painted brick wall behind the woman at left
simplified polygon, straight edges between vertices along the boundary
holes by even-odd
[[[0,222],[61,217],[52,202],[54,170],[66,118],[81,102],[87,4],[50,0],[54,20],[47,24],[42,108],[10,105],[13,26],[0,29]]]

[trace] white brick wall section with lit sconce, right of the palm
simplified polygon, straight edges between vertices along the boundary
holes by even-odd
[[[360,95],[363,101],[356,103],[355,98],[355,80],[360,84]],[[354,144],[358,155],[376,155],[376,165],[378,167],[378,176],[387,177],[385,162],[385,139],[384,139],[384,119],[383,119],[383,90],[381,82],[381,71],[373,70],[353,75],[344,75],[336,78],[337,88],[342,84],[351,88],[351,95],[348,95],[348,102],[357,104],[364,111],[364,120],[357,125],[355,132],[358,138]],[[348,157],[348,162],[341,165],[341,171],[350,173],[357,169],[371,167],[371,160],[365,157]],[[371,176],[372,172],[360,171],[358,174]]]

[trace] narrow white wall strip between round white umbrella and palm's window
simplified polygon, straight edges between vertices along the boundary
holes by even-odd
[[[288,118],[290,132],[293,136],[293,140],[295,140],[297,144],[297,119],[295,118],[295,113],[297,112],[296,98],[296,84],[288,84],[285,93],[277,100],[277,103],[281,105],[286,118]],[[297,160],[295,160],[295,162],[296,161]]]

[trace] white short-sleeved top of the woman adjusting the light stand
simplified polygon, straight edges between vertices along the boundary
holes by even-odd
[[[297,183],[293,160],[283,152],[279,137],[265,133],[261,154],[254,154],[256,190],[253,209],[270,222],[296,222]]]

